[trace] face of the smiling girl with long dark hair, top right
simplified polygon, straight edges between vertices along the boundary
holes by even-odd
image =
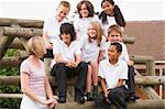
[[[109,1],[105,1],[101,6],[102,10],[107,14],[112,14],[114,6],[112,6]]]

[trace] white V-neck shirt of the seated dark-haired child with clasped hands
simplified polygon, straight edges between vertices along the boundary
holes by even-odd
[[[66,62],[75,61],[75,55],[81,55],[80,46],[77,41],[73,41],[67,46],[63,41],[57,41],[53,45],[53,54],[61,54],[62,58]],[[52,61],[51,67],[56,64],[55,59]]]

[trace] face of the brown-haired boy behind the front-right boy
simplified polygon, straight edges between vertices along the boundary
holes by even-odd
[[[111,31],[108,34],[108,41],[110,41],[110,42],[121,42],[122,41],[122,36],[121,36],[121,34],[119,32]]]

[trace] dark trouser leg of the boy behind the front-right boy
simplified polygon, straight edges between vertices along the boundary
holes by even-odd
[[[128,80],[127,80],[127,85],[128,85],[128,89],[129,89],[129,95],[130,96],[134,96],[135,95],[135,83],[134,83],[134,67],[133,66],[128,66],[129,70],[128,70]]]

